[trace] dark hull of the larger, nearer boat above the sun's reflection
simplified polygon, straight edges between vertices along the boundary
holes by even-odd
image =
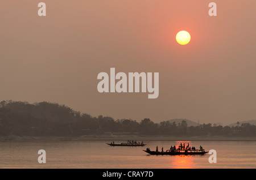
[[[167,150],[167,151],[150,151],[149,149],[143,150],[150,155],[204,155],[204,149],[196,149],[196,150],[188,150],[188,149],[175,149],[175,150]]]

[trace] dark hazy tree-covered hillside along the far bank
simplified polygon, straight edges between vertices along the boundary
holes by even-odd
[[[167,136],[255,136],[256,126],[221,126],[210,123],[188,126],[186,121],[154,123],[148,118],[141,122],[132,119],[92,117],[65,105],[50,102],[29,104],[20,101],[0,102],[0,135],[19,136],[77,136],[101,135],[106,132],[126,132],[140,135]]]

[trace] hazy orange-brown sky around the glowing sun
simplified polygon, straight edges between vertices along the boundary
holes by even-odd
[[[32,0],[0,6],[0,100],[154,122],[256,119],[256,1]],[[217,3],[217,16],[208,4]],[[179,45],[176,33],[191,34]],[[97,75],[159,72],[159,97],[99,93]]]

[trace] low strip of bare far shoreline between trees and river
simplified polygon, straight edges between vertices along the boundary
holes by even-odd
[[[127,140],[137,141],[256,141],[256,137],[234,136],[146,136],[146,135],[84,135],[84,136],[0,136],[0,142],[82,142],[99,141],[106,142]]]

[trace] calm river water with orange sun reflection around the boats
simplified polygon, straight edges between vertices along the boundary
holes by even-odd
[[[191,146],[203,146],[205,151],[217,151],[217,163],[210,164],[203,156],[154,156],[143,149],[155,151],[178,145],[175,141],[150,141],[144,147],[110,147],[106,141],[84,142],[0,142],[0,168],[256,168],[256,142],[192,141]],[[115,142],[121,143],[121,142]],[[185,142],[187,145],[187,142]],[[46,151],[46,164],[38,163],[38,151]]]

